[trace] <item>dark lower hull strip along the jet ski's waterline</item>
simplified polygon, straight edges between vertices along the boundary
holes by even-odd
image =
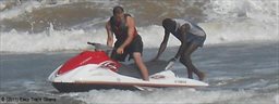
[[[160,84],[151,82],[133,83],[133,82],[52,82],[52,86],[59,92],[85,92],[89,90],[141,90],[138,87],[150,87],[150,88],[179,88],[187,87],[195,88],[198,86],[186,86],[186,84]],[[202,87],[202,86],[201,86]]]

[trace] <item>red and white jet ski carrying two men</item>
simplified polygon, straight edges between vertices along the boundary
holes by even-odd
[[[90,43],[96,47],[97,43]],[[145,88],[206,87],[208,83],[175,76],[172,70],[150,69],[149,81],[137,69],[112,61],[105,51],[84,51],[59,66],[48,80],[60,92],[93,89],[145,90]]]

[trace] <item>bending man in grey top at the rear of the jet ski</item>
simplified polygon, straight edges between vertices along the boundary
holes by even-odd
[[[204,73],[199,72],[192,63],[191,54],[198,48],[203,47],[206,39],[205,31],[196,24],[184,20],[165,18],[162,21],[165,28],[165,37],[160,44],[158,54],[153,61],[159,58],[165,51],[170,34],[178,38],[181,42],[177,55],[170,61],[179,60],[187,68],[189,78],[193,79],[193,73],[197,75],[199,80],[204,80]]]

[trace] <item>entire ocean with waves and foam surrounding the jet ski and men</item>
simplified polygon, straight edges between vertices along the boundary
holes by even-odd
[[[277,0],[21,1],[0,0],[0,103],[10,99],[34,104],[279,104]],[[89,50],[87,41],[106,44],[104,26],[114,5],[123,5],[135,17],[146,64],[162,40],[165,17],[198,23],[207,39],[192,58],[210,86],[59,93],[47,77],[70,57]],[[160,60],[175,55],[179,44],[170,37]],[[183,65],[173,68],[186,77]]]

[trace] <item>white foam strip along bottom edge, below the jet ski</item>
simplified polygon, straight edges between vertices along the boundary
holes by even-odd
[[[123,91],[123,90],[92,90],[83,93],[64,94],[81,100],[87,104],[92,103],[272,103],[271,94],[253,99],[259,93],[255,91],[196,91],[191,89],[159,89],[151,92]],[[275,100],[278,96],[275,96]],[[277,102],[277,101],[276,101]]]

